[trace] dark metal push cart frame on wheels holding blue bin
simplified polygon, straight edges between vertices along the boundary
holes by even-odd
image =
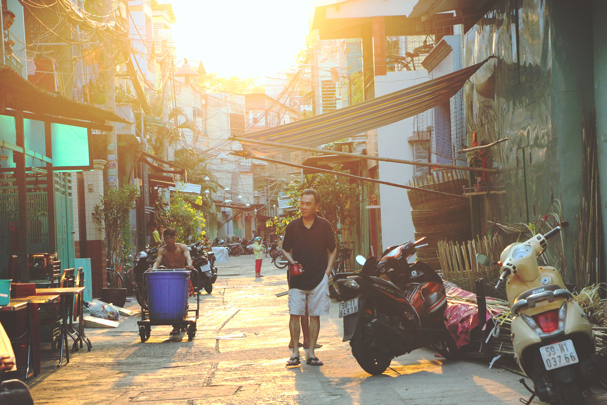
[[[171,270],[167,270],[167,269],[158,269],[158,270],[148,270],[146,271],[146,273],[148,272],[155,272],[155,271],[189,271],[186,270],[185,268],[175,268],[175,269],[171,269]],[[194,269],[192,271],[198,271],[198,269]],[[198,292],[196,293],[196,309],[192,310],[189,309],[189,303],[187,302],[187,298],[186,298],[186,305],[185,305],[185,311],[183,313],[183,316],[179,317],[179,318],[172,318],[172,319],[166,319],[166,318],[161,318],[161,319],[155,319],[154,316],[154,312],[151,313],[149,307],[150,307],[150,303],[149,303],[149,297],[148,295],[148,282],[147,282],[147,277],[145,276],[144,273],[144,282],[143,282],[143,295],[145,296],[145,299],[142,300],[144,302],[146,302],[147,305],[141,305],[141,321],[137,321],[137,325],[139,327],[139,336],[141,337],[141,342],[145,342],[146,340],[149,339],[150,337],[150,332],[151,332],[151,327],[152,326],[157,326],[157,325],[179,325],[180,330],[182,328],[187,328],[188,330],[188,340],[191,341],[194,336],[196,335],[196,321],[198,320],[198,315],[200,313],[200,279],[202,277],[200,277],[200,274],[198,274],[198,277],[196,277],[197,279],[197,284],[198,284]],[[188,276],[188,279],[191,276]],[[188,282],[189,285],[189,282]],[[189,297],[189,294],[186,293],[186,297]],[[193,313],[194,316],[191,316]]]

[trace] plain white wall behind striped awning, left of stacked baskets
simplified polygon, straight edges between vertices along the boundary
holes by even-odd
[[[375,97],[402,90],[428,80],[426,70],[402,70],[375,77]],[[413,160],[413,148],[407,138],[413,135],[413,117],[377,129],[378,155]],[[405,184],[413,178],[413,166],[379,162],[379,180]],[[382,247],[399,245],[414,239],[411,205],[407,190],[379,185],[381,203]]]

